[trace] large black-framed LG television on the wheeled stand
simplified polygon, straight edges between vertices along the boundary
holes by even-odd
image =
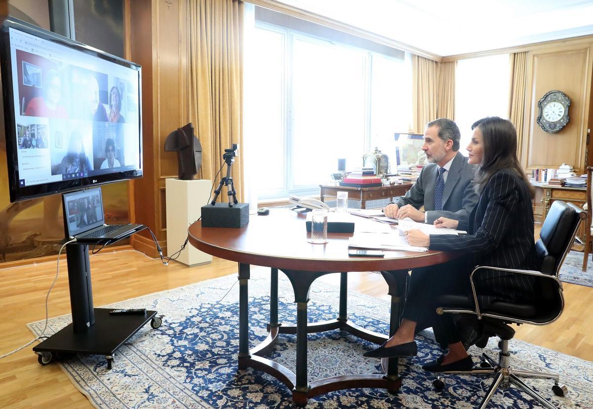
[[[0,60],[11,202],[142,176],[139,65],[14,18]]]

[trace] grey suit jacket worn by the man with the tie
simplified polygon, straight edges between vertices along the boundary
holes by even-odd
[[[439,166],[436,163],[424,166],[412,189],[394,203],[399,207],[409,204],[416,209],[424,206],[426,223],[432,224],[443,216],[467,224],[470,213],[478,202],[478,195],[471,183],[476,175],[476,166],[467,163],[467,157],[457,152],[451,163],[451,168],[448,170],[443,191],[443,210],[441,211],[435,210],[435,183],[438,169]]]

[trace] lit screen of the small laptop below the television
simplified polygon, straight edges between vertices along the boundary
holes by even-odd
[[[63,200],[69,237],[105,223],[101,188],[66,193]]]

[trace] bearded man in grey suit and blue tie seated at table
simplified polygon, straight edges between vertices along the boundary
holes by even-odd
[[[476,166],[469,165],[459,152],[460,138],[459,128],[447,118],[426,125],[422,150],[431,163],[422,168],[404,197],[385,207],[387,217],[409,217],[430,224],[447,217],[467,223],[478,201],[471,182]],[[419,210],[422,206],[424,211]]]

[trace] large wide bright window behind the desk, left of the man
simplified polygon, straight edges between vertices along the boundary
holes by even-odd
[[[251,38],[245,166],[259,199],[318,194],[337,159],[362,166],[375,146],[395,163],[394,133],[412,117],[411,65],[264,22]]]

